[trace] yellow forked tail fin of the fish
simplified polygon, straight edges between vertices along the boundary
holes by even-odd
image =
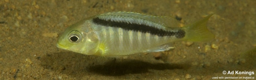
[[[213,14],[208,15],[207,17],[191,24],[184,26],[183,28],[186,30],[186,35],[183,38],[184,41],[209,41],[211,39],[214,39],[214,34],[211,33],[206,26],[206,23],[208,22],[208,19]]]

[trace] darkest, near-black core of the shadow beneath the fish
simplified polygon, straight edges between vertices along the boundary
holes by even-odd
[[[107,76],[121,76],[126,74],[150,73],[150,70],[172,70],[172,69],[187,69],[185,65],[169,64],[169,63],[149,63],[139,60],[126,59],[122,61],[109,61],[104,65],[94,65],[88,67],[91,73],[102,74]]]

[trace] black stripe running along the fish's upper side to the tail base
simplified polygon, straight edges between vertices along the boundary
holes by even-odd
[[[99,17],[93,18],[93,23],[102,25],[102,26],[119,27],[124,30],[133,30],[133,31],[140,31],[142,33],[150,33],[160,37],[175,35],[176,38],[183,38],[185,37],[185,34],[186,34],[186,32],[181,29],[178,30],[178,32],[171,32],[171,31],[165,31],[163,29],[157,29],[155,27],[144,25],[144,24],[104,20],[104,19],[99,19]]]

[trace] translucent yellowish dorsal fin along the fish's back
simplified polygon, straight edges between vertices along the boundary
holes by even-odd
[[[159,25],[163,25],[164,27],[179,27],[179,22],[172,17],[159,17],[159,16],[152,16],[152,15],[146,15],[141,13],[135,13],[135,12],[111,12],[111,13],[105,13],[100,14],[101,16],[111,15],[111,16],[120,16],[120,17],[134,17],[143,19],[146,21],[154,22]]]

